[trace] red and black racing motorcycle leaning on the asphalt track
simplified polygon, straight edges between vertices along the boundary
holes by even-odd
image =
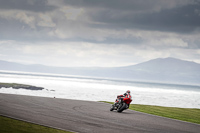
[[[117,97],[118,100],[111,106],[110,111],[117,110],[117,112],[121,113],[123,110],[129,108],[130,103],[132,102],[130,98],[124,98],[122,95]]]

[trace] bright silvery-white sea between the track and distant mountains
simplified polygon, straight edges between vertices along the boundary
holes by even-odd
[[[1,88],[0,93],[87,101],[115,101],[131,91],[132,103],[181,108],[200,108],[200,86],[134,82],[91,77],[0,71],[0,82],[22,83],[43,90]]]

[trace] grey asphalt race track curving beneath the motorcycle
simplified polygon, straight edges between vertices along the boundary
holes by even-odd
[[[199,133],[200,125],[132,110],[109,111],[110,104],[0,94],[0,115],[80,133]]]

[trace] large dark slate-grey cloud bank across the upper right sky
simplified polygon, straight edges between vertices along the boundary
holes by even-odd
[[[133,5],[136,4],[136,2],[133,3]],[[190,33],[200,27],[199,3],[174,6],[170,9],[160,9],[160,11],[154,11],[154,6],[148,2],[141,4],[140,9],[134,9],[134,6],[129,8],[130,5],[127,5],[127,9],[124,10],[119,9],[119,7],[114,8],[113,5],[111,8],[105,8],[105,6],[94,11],[89,10],[88,15],[93,21],[101,22],[99,25],[94,25],[101,28]],[[150,5],[148,9],[146,9],[146,5]],[[147,12],[138,11],[141,9],[145,9]]]

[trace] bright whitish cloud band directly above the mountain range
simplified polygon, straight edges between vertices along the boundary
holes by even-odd
[[[180,40],[178,40],[180,41]],[[159,46],[162,47],[162,46]],[[152,45],[97,44],[88,42],[25,43],[1,41],[0,59],[49,66],[102,66],[134,65],[154,58],[175,57],[200,62],[198,49],[177,46],[158,48]]]

